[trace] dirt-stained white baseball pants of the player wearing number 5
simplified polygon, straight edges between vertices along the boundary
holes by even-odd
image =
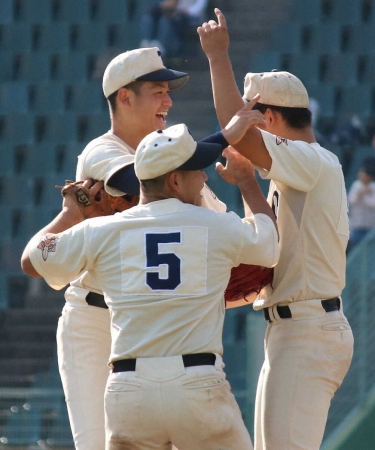
[[[105,411],[106,450],[253,449],[219,356],[193,367],[138,358],[135,371],[109,376]]]

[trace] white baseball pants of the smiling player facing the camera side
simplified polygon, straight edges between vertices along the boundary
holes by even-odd
[[[57,355],[76,450],[105,447],[110,348],[108,309],[66,303],[57,327]]]

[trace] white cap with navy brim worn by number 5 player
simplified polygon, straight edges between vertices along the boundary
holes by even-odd
[[[150,180],[172,170],[201,170],[221,154],[221,145],[196,142],[184,124],[148,134],[137,147],[134,168],[139,180]]]

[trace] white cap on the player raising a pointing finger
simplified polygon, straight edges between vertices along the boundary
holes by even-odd
[[[308,108],[309,95],[302,81],[289,72],[247,73],[244,99],[251,101],[260,94],[259,103],[287,108]]]

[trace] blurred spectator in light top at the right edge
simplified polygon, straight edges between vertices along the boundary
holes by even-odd
[[[349,194],[350,238],[348,252],[375,228],[375,156],[362,161],[358,179]]]

